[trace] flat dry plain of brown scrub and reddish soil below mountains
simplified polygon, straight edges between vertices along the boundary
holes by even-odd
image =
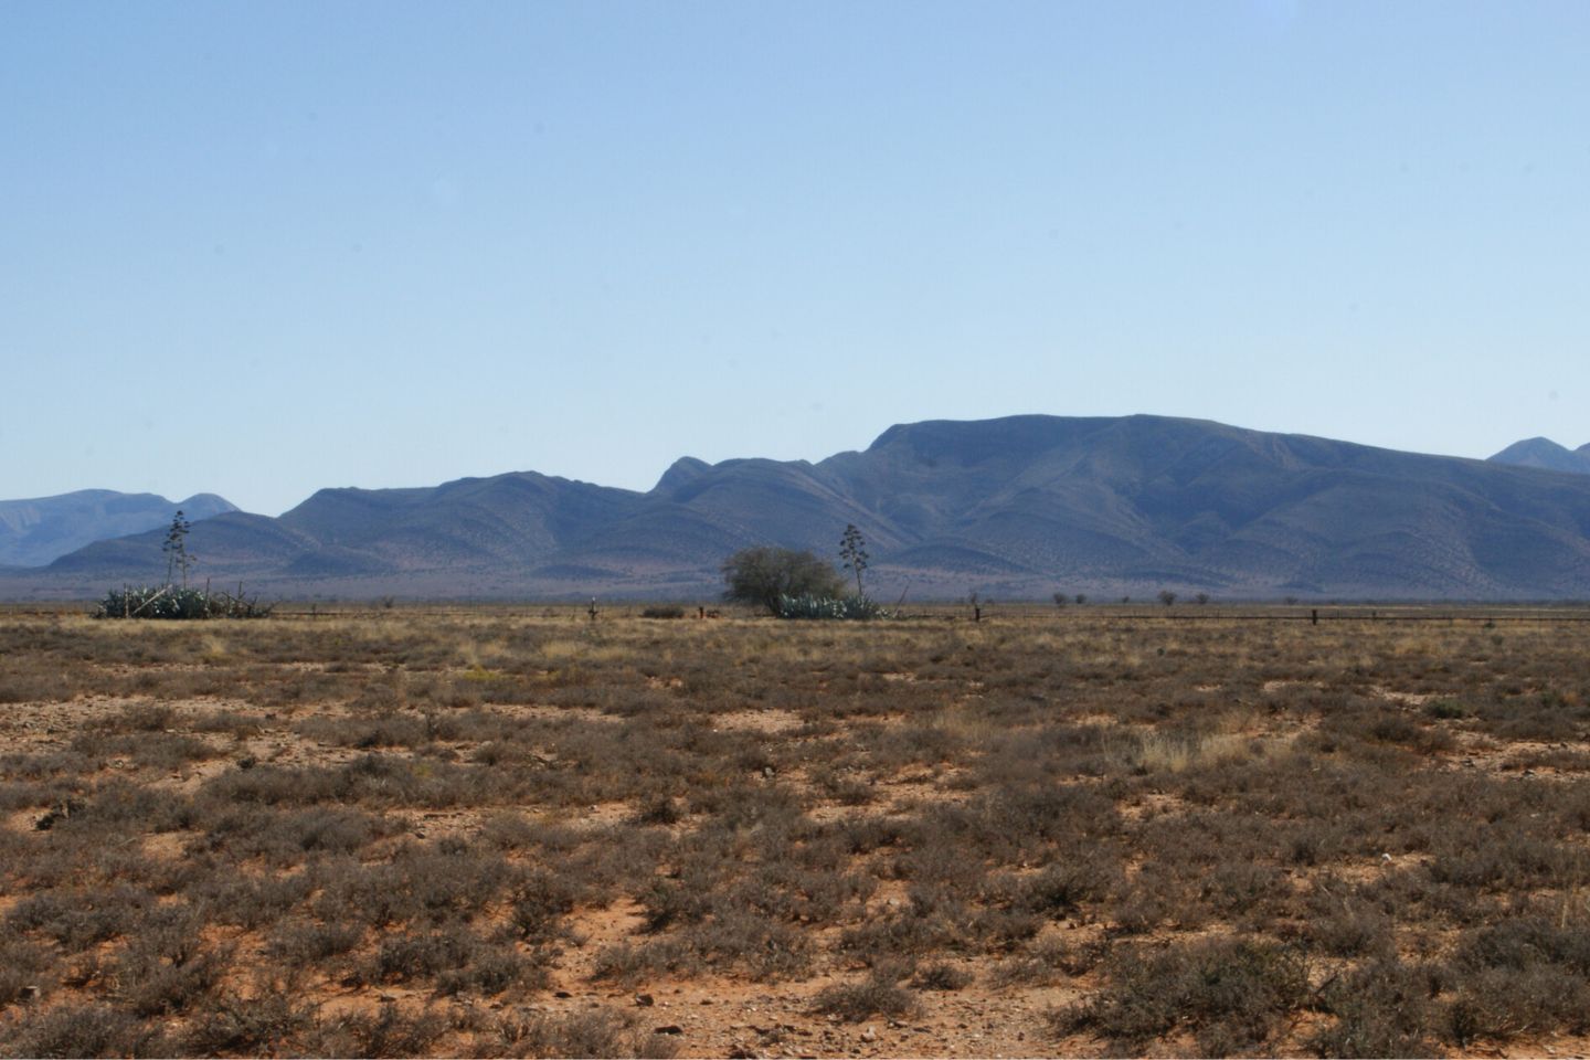
[[[1590,623],[0,613],[5,1055],[1590,1047]]]

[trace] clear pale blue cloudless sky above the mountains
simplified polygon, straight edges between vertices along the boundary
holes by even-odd
[[[0,6],[0,497],[1590,442],[1590,5]]]

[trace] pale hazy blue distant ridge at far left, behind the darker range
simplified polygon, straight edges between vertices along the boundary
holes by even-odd
[[[0,501],[0,566],[41,567],[97,540],[165,528],[178,509],[189,521],[237,510],[213,493],[167,501],[153,493],[78,489]]]

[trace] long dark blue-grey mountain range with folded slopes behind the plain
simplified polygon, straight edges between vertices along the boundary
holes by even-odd
[[[854,523],[884,599],[1590,596],[1590,475],[1501,456],[1164,416],[927,421],[819,462],[684,458],[649,491],[536,472],[321,489],[196,521],[188,547],[200,577],[285,596],[701,598],[736,548],[833,556]],[[157,580],[161,539],[8,571],[0,594]]]

